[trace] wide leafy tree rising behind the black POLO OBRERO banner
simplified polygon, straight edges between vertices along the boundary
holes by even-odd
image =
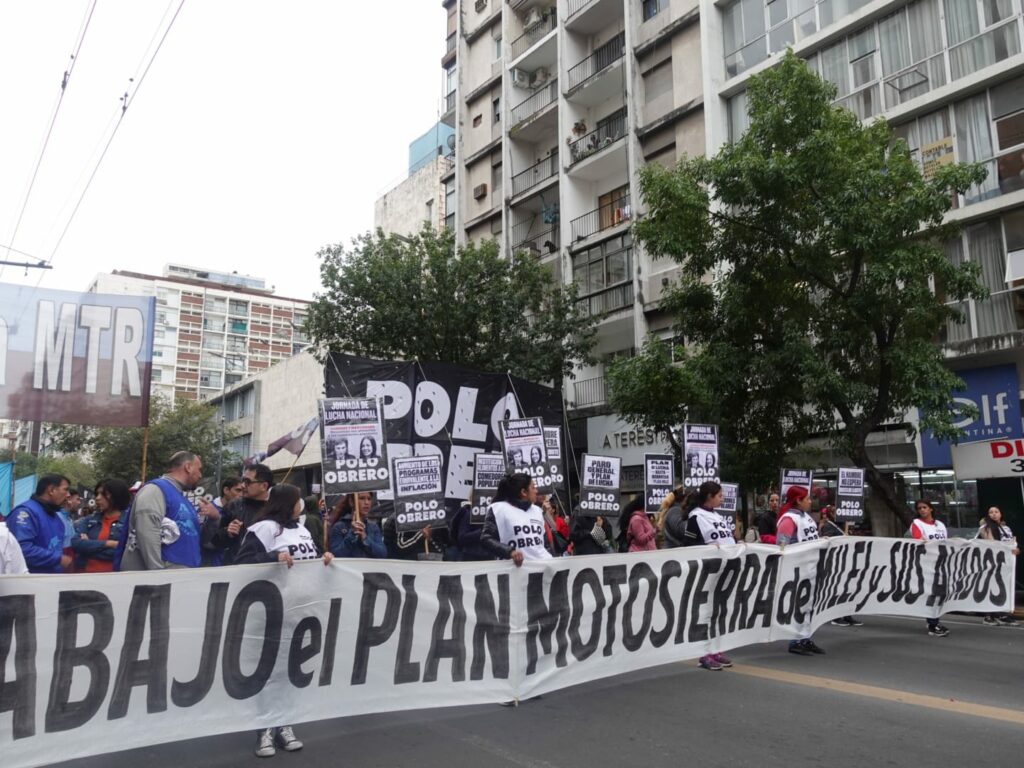
[[[588,360],[595,319],[537,258],[453,234],[365,234],[319,251],[324,290],[306,333],[321,349],[454,362],[539,382]]]

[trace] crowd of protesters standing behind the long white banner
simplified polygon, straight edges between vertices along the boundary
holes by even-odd
[[[529,475],[506,475],[482,521],[474,520],[469,502],[451,511],[447,525],[399,530],[395,516],[381,519],[381,507],[368,493],[332,500],[330,508],[318,496],[305,499],[295,485],[275,484],[269,467],[246,467],[242,477],[220,483],[212,500],[189,498],[203,473],[202,459],[187,451],[171,457],[161,477],[129,488],[117,478],[94,488],[88,508],[61,475],[39,478],[36,493],[16,505],[6,521],[0,518],[0,574],[102,573],[114,570],[156,570],[197,566],[226,566],[281,562],[289,568],[297,560],[334,558],[391,558],[406,560],[525,560],[560,556],[642,553],[657,548],[723,547],[736,543],[736,523],[717,510],[722,486],[706,481],[687,492],[677,487],[662,502],[655,515],[645,509],[643,496],[629,500],[615,521],[591,516],[577,507],[566,516],[557,496],[539,495]],[[843,536],[834,508],[821,504],[811,514],[812,497],[794,486],[780,498],[771,493],[752,518],[745,541],[787,546],[819,537]],[[914,505],[916,519],[907,531],[913,539],[942,540],[947,536],[932,504]],[[84,514],[82,514],[84,512]],[[998,508],[988,510],[979,538],[1016,540]],[[986,615],[985,624],[1013,625],[1007,613]],[[853,616],[833,621],[838,626],[860,626]],[[949,630],[928,620],[928,633],[944,637]],[[810,637],[793,640],[790,651],[800,655],[824,653]],[[719,671],[732,666],[723,653],[707,653],[701,668]],[[267,728],[257,734],[256,755],[269,757],[276,749],[302,749],[290,726]]]

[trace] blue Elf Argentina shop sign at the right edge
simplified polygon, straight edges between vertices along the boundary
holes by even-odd
[[[957,442],[980,442],[1021,436],[1020,383],[1017,366],[992,366],[957,371],[966,389],[954,391],[953,408],[973,406],[977,418],[965,416],[954,422],[962,430]],[[930,429],[921,431],[923,467],[952,466],[949,442],[935,439]]]

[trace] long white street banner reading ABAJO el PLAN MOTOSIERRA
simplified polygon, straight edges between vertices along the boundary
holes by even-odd
[[[851,613],[1006,611],[1014,566],[1006,543],[839,537],[521,567],[339,558],[5,577],[2,761],[522,699]]]

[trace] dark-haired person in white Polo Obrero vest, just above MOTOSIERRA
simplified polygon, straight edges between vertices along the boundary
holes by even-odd
[[[483,520],[480,546],[495,558],[519,566],[523,560],[549,559],[546,544],[544,513],[537,506],[534,478],[523,473],[503,477]]]

